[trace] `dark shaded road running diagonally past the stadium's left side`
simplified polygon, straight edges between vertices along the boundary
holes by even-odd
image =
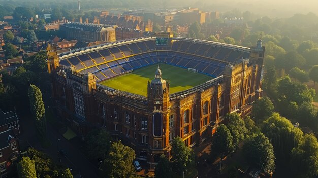
[[[37,139],[35,126],[30,116],[18,116],[21,126],[21,134],[18,136],[20,140],[27,140],[31,147],[48,154],[52,160],[72,169],[72,173],[80,173],[82,177],[97,177],[98,169],[92,165],[86,157],[80,152],[77,146],[72,145],[49,123],[47,124],[47,138],[51,141],[51,146],[43,149]],[[58,155],[57,150],[64,149],[67,156]]]

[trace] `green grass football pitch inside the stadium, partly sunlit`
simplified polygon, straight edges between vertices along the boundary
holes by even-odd
[[[190,72],[187,69],[168,64],[159,64],[159,67],[162,72],[162,79],[170,83],[171,94],[213,79],[213,77]],[[134,70],[131,73],[102,81],[100,84],[117,90],[147,96],[147,83],[154,79],[156,69],[157,64],[153,64]]]

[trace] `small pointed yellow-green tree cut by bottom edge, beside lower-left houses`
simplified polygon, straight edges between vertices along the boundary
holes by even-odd
[[[17,168],[20,178],[37,178],[35,163],[29,157],[23,156]]]

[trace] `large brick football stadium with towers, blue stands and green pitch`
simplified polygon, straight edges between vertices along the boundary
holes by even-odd
[[[52,98],[78,134],[104,128],[137,159],[170,157],[170,141],[190,147],[242,117],[262,95],[265,47],[175,38],[169,33],[107,43],[57,55],[48,46]]]

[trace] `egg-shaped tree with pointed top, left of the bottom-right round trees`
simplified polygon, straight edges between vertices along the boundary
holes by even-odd
[[[233,137],[230,130],[224,124],[221,124],[213,135],[212,152],[217,156],[224,157],[233,152],[234,146],[232,142]]]

